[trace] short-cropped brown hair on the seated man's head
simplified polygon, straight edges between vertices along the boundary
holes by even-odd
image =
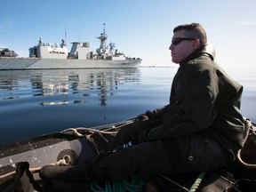
[[[173,29],[173,33],[185,30],[188,32],[187,36],[191,38],[198,38],[201,44],[207,43],[207,36],[204,28],[199,23],[183,24]]]

